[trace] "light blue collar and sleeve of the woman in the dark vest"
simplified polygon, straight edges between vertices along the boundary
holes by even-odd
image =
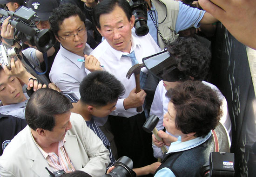
[[[207,141],[212,134],[212,131],[208,133],[204,138],[198,137],[195,139],[190,139],[189,141],[183,141],[182,138],[179,136],[178,140],[171,143],[168,153],[171,152],[181,152],[181,151],[186,151],[189,149],[192,149],[198,145],[201,145],[205,141]],[[162,168],[161,170],[157,171],[154,177],[176,177],[175,174],[167,167]]]

